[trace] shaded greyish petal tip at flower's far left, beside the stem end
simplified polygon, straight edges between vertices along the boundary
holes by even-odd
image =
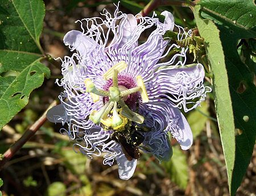
[[[67,114],[63,105],[57,105],[47,111],[46,118],[52,123],[65,123],[67,122]]]

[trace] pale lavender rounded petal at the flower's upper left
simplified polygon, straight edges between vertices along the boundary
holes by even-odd
[[[79,51],[80,55],[86,55],[90,52],[96,45],[96,41],[92,38],[82,34],[81,31],[72,30],[67,32],[63,38],[64,44],[71,48],[71,51],[76,49]]]

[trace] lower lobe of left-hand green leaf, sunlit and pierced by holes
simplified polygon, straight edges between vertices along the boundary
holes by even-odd
[[[43,84],[44,75],[49,77],[49,69],[39,60],[28,64],[16,77],[0,76],[0,128],[27,105],[31,91]]]

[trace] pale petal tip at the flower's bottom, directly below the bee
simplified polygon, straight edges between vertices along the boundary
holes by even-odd
[[[137,166],[137,159],[128,161],[125,155],[117,157],[119,178],[122,180],[129,180],[135,171]]]

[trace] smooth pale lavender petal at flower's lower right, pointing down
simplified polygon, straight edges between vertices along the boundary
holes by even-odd
[[[179,142],[181,149],[187,150],[193,144],[193,134],[191,128],[187,122],[187,119],[179,109],[172,108],[172,110],[174,110],[177,116],[180,116],[179,122],[177,123],[178,127],[180,128],[180,137],[176,137],[176,139]]]

